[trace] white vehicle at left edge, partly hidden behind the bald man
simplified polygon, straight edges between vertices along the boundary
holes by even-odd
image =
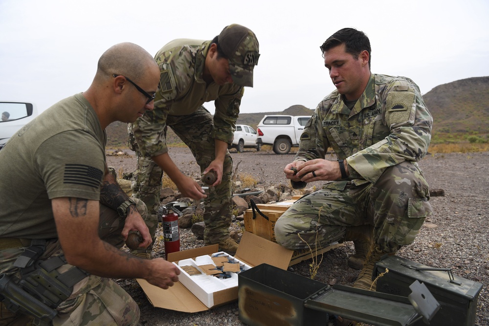
[[[17,130],[38,115],[37,108],[32,103],[7,101],[0,102],[0,113],[0,149]]]

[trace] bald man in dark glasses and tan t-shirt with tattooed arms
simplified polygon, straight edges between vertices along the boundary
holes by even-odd
[[[119,250],[130,231],[143,250],[152,239],[144,205],[136,209],[105,161],[105,128],[152,110],[158,80],[148,52],[116,44],[87,91],[45,110],[1,150],[0,325],[137,325],[137,304],[111,279],[163,289],[178,281],[170,262]]]

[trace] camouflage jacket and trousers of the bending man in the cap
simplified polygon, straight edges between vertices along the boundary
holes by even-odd
[[[202,79],[211,41],[175,40],[156,54],[161,71],[155,109],[128,126],[129,147],[136,152],[133,197],[142,199],[156,218],[163,172],[152,160],[168,152],[166,130],[170,127],[190,148],[203,172],[215,159],[218,139],[232,143],[244,87],[236,84],[206,85]],[[214,101],[214,116],[202,104]],[[204,241],[218,243],[229,238],[232,213],[231,174],[233,162],[226,152],[222,182],[209,189],[204,199]]]

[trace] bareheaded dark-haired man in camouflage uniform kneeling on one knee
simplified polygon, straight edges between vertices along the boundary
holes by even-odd
[[[370,72],[363,32],[341,29],[321,52],[336,90],[318,104],[284,172],[295,187],[327,183],[277,220],[275,236],[289,249],[353,240],[348,264],[362,269],[354,286],[375,290],[375,262],[412,243],[431,215],[417,162],[428,150],[433,121],[412,80]],[[329,147],[338,161],[325,159]]]

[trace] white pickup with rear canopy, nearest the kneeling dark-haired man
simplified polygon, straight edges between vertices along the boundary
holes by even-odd
[[[266,115],[258,124],[257,145],[271,145],[276,154],[287,154],[292,147],[299,146],[308,115]]]

